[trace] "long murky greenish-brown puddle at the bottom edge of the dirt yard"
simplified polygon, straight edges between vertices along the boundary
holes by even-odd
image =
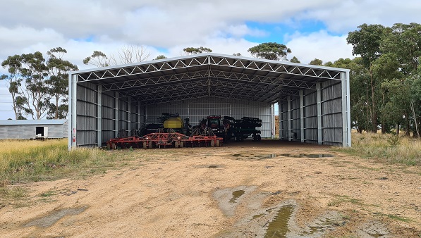
[[[286,205],[279,208],[278,213],[267,226],[264,237],[286,237],[289,232],[288,222],[293,214],[294,206]]]

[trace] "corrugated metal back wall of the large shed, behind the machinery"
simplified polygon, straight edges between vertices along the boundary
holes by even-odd
[[[206,97],[195,100],[175,101],[169,104],[148,105],[146,122],[158,123],[162,113],[178,113],[181,118],[189,118],[191,125],[198,125],[207,115],[229,115],[240,119],[245,116],[262,119],[262,137],[274,136],[274,116],[271,104],[254,101],[238,101]]]

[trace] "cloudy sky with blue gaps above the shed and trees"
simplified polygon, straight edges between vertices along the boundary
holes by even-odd
[[[117,55],[142,46],[149,60],[183,55],[188,46],[240,53],[263,42],[285,44],[301,63],[353,58],[346,44],[358,25],[421,23],[420,0],[0,0],[0,62],[63,47],[79,69],[93,51]],[[0,75],[6,73],[0,67]],[[0,81],[0,120],[14,118]]]

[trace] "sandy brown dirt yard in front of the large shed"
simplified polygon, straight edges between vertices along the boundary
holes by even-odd
[[[421,236],[419,167],[274,140],[109,153],[135,159],[18,185],[30,204],[0,208],[0,237]]]

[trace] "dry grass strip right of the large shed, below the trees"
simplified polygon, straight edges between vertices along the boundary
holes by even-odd
[[[352,147],[341,150],[385,162],[421,165],[421,140],[415,138],[352,133]]]

